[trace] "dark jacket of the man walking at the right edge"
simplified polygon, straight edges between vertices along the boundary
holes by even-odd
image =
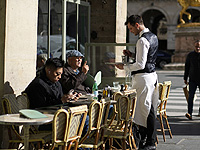
[[[195,51],[187,55],[185,62],[184,80],[200,83],[200,53]]]

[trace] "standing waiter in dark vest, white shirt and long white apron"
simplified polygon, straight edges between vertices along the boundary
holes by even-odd
[[[139,125],[141,135],[139,149],[155,150],[156,117],[154,108],[157,108],[158,101],[158,97],[155,96],[157,85],[155,62],[158,39],[144,26],[142,17],[139,15],[130,16],[125,25],[135,36],[139,35],[136,43],[136,58],[132,64],[118,64],[116,66],[131,72],[133,76],[132,85],[137,91],[134,122]],[[123,53],[133,57],[133,53],[129,50],[124,50]]]

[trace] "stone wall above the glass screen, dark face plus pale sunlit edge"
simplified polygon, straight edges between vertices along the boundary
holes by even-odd
[[[124,22],[127,2],[121,0],[89,0],[89,2],[91,5],[91,43],[125,42]]]

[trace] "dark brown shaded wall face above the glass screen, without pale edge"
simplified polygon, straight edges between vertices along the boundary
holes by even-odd
[[[91,43],[115,42],[116,4],[115,1],[93,1],[91,5]],[[96,36],[94,36],[96,34]]]

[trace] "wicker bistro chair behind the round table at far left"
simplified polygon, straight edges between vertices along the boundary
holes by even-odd
[[[3,96],[2,106],[4,114],[19,113],[20,109],[25,109],[28,105],[29,101],[25,95],[19,95],[16,97],[15,94],[6,94]],[[15,144],[17,144],[18,147],[20,143],[23,143],[24,136],[22,131],[23,130],[20,130],[20,128],[15,125],[11,125],[8,128],[9,148],[15,146]],[[34,148],[36,148],[35,143],[37,143],[37,148],[40,148],[40,143],[42,143],[43,147],[45,146],[45,143],[50,141],[50,138],[46,138],[49,134],[49,132],[30,134],[29,142]],[[19,149],[21,149],[22,146]]]

